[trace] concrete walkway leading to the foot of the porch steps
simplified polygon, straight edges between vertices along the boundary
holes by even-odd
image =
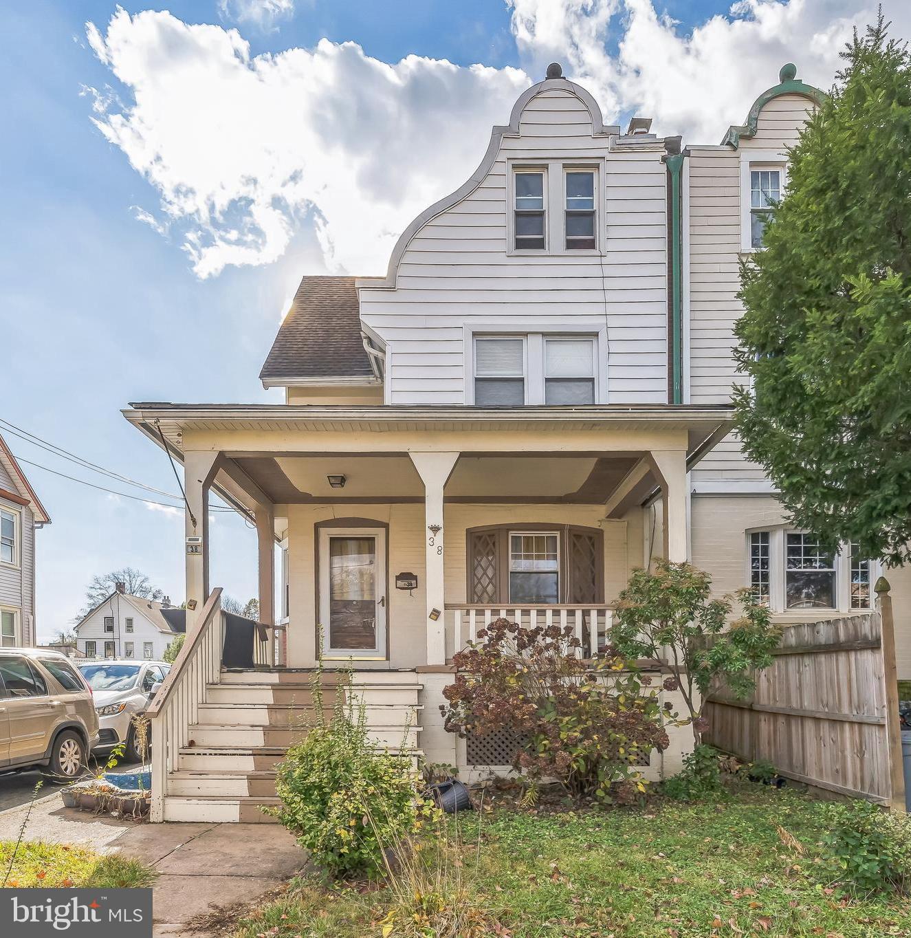
[[[47,791],[47,790],[45,790]],[[19,836],[28,805],[0,811],[0,840]],[[26,840],[78,843],[99,853],[143,860],[159,871],[154,886],[155,938],[178,938],[196,915],[251,902],[304,866],[305,855],[281,825],[136,824],[64,808],[53,791],[32,806]]]

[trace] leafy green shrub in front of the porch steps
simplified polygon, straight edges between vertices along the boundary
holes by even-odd
[[[352,719],[343,703],[346,696],[340,687],[326,718],[314,685],[315,725],[279,765],[281,808],[270,813],[319,869],[339,878],[376,878],[436,809],[419,795],[412,760],[376,749],[363,707]]]

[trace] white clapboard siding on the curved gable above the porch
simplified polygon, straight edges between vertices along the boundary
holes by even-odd
[[[465,401],[464,326],[606,326],[608,401],[667,400],[667,228],[663,148],[610,150],[571,90],[545,88],[524,106],[493,164],[457,204],[425,222],[398,265],[393,290],[363,287],[361,318],[387,343],[391,403]],[[508,160],[606,158],[603,256],[511,255]],[[560,205],[549,206],[552,211]],[[602,363],[603,367],[603,363]]]

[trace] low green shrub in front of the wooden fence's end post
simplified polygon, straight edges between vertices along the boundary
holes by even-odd
[[[911,890],[911,817],[869,801],[826,806],[827,860],[837,881],[858,893]]]

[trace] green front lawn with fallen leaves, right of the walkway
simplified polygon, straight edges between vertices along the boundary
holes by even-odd
[[[749,782],[693,805],[497,807],[460,823],[463,879],[487,917],[478,933],[503,938],[911,935],[907,900],[846,898],[819,885],[821,809]],[[380,924],[389,901],[386,889],[302,880],[239,934],[395,938],[405,932]]]

